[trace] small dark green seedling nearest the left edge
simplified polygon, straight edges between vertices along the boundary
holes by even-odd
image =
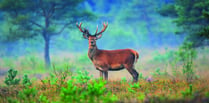
[[[5,77],[4,83],[8,86],[17,85],[20,82],[20,79],[16,79],[17,70],[9,69],[7,77]]]

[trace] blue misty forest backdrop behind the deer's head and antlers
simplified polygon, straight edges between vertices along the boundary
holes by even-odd
[[[183,35],[176,35],[178,27],[174,18],[161,16],[159,9],[166,3],[174,0],[85,0],[80,6],[91,12],[91,20],[80,20],[82,27],[95,33],[98,25],[108,22],[108,28],[103,33],[97,46],[100,49],[133,48],[142,50],[146,48],[177,47],[184,40]],[[70,11],[69,11],[70,12]],[[5,22],[5,15],[0,12],[1,40],[8,32],[10,24]],[[65,19],[63,19],[65,22]],[[61,28],[57,26],[56,28]],[[27,35],[27,34],[24,34]],[[33,38],[21,38],[11,42],[0,42],[0,56],[19,56],[30,53],[43,53],[44,40],[38,35]],[[50,53],[56,52],[87,52],[88,40],[71,24],[61,34],[52,36]]]

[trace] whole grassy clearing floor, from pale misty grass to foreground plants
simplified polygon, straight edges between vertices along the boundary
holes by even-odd
[[[56,61],[48,70],[38,55],[16,57],[16,60],[1,58],[0,68],[6,68],[1,71],[17,70],[14,80],[20,82],[7,86],[3,81],[8,73],[0,76],[0,103],[209,102],[209,65],[205,63],[209,58],[208,48],[198,50],[194,71],[199,78],[192,82],[181,72],[181,64],[175,64],[178,72],[173,75],[169,51],[147,53],[152,55],[143,55],[144,52],[147,53],[142,51],[136,64],[140,72],[137,83],[132,83],[126,70],[110,72],[108,81],[99,79],[99,72],[92,69],[83,54],[63,56],[64,59],[52,57]],[[28,82],[30,85],[25,85]]]

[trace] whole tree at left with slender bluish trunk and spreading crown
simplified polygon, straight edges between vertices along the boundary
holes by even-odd
[[[77,20],[91,19],[93,14],[82,7],[83,0],[1,0],[0,10],[11,24],[7,41],[41,35],[45,41],[44,59],[50,66],[50,40]]]

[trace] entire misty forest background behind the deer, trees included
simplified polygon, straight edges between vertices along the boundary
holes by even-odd
[[[76,23],[94,34],[108,22],[97,47],[136,50],[141,75],[185,76],[189,65],[189,73],[207,77],[208,5],[208,0],[0,0],[0,76],[13,68],[37,78],[55,69],[98,77]],[[125,69],[110,72],[112,79],[130,76]]]

